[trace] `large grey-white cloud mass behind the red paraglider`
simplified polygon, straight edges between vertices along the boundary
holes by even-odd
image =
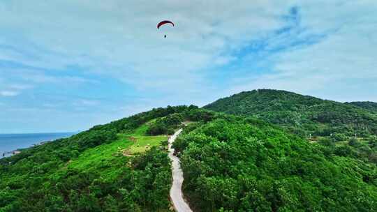
[[[0,7],[0,27],[20,36],[0,36],[0,45],[3,40],[27,46],[4,54],[28,66],[63,69],[79,64],[139,89],[165,89],[169,82],[190,89],[205,84],[199,70],[232,60],[221,52],[281,26],[279,15],[287,6],[274,1],[8,2]],[[156,24],[163,19],[173,20],[176,27],[158,31]]]

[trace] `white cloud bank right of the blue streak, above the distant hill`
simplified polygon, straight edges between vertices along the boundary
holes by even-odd
[[[376,10],[375,1],[302,3],[301,27],[325,37],[272,55],[272,73],[237,79],[228,92],[272,88],[339,101],[377,101]]]

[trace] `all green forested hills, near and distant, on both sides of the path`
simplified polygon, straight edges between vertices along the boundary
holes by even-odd
[[[194,211],[377,211],[377,118],[357,104],[259,90],[94,126],[1,159],[0,211],[170,211],[178,128]]]

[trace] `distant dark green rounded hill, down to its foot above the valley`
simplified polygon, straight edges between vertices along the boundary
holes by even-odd
[[[255,116],[281,126],[295,126],[302,135],[330,135],[351,128],[356,133],[377,135],[377,116],[355,104],[322,100],[290,91],[259,89],[220,98],[203,108],[228,114]],[[325,126],[320,126],[323,124]],[[318,128],[313,129],[313,125]],[[339,129],[341,128],[341,129]],[[332,131],[332,132],[331,132]],[[354,132],[355,133],[355,132]],[[300,132],[297,132],[300,134]],[[349,133],[348,133],[349,134]],[[348,136],[351,136],[350,134]]]

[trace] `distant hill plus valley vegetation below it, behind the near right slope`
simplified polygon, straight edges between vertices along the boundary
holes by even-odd
[[[261,89],[222,98],[205,108],[262,119],[311,142],[330,139],[335,144],[348,144],[356,136],[361,145],[352,146],[355,154],[362,160],[376,162],[377,114],[371,111],[375,106],[376,103],[337,103]]]

